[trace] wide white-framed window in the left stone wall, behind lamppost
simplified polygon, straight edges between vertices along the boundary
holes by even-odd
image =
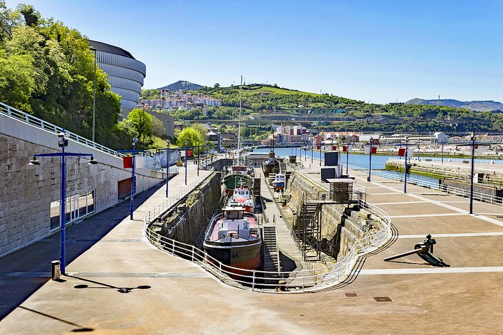
[[[59,200],[50,204],[50,229],[61,226],[59,221]],[[94,212],[94,190],[72,195],[65,199],[65,224]]]

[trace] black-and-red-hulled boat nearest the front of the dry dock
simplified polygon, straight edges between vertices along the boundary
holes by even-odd
[[[224,270],[237,274],[229,274],[230,277],[243,279],[240,274],[248,275],[252,270],[260,268],[262,244],[257,217],[252,213],[245,213],[245,208],[236,206],[223,208],[222,213],[212,219],[205,234],[203,248],[209,256],[225,266],[233,267],[223,267]],[[213,260],[208,261],[211,263]]]

